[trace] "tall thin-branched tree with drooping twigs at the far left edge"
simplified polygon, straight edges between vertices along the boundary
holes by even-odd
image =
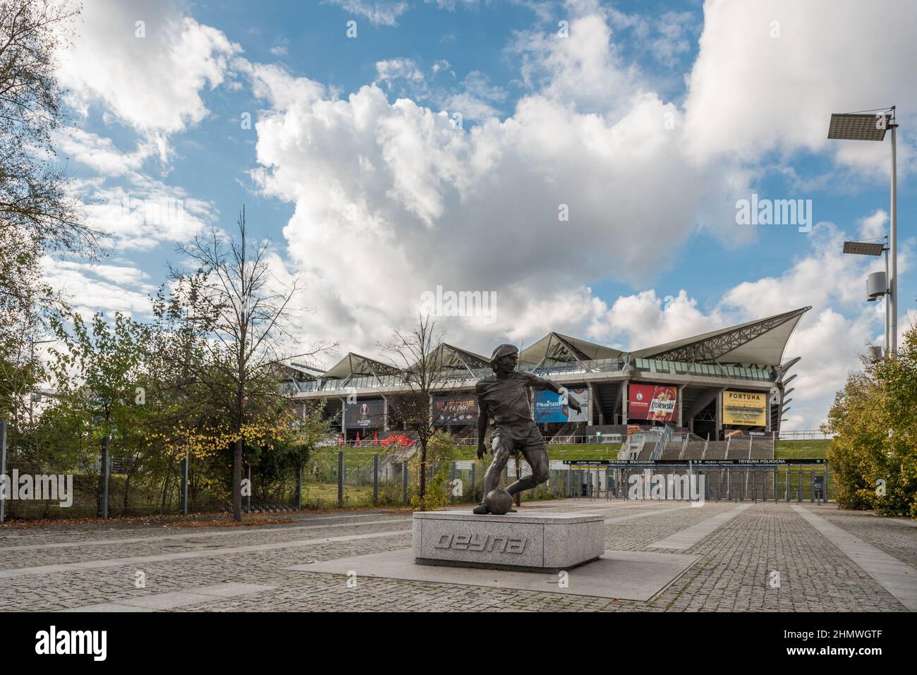
[[[66,119],[55,57],[79,11],[0,0],[0,417],[20,438],[34,425],[30,398],[44,378],[45,310],[59,306],[42,282],[41,256],[93,255],[98,243],[51,143]]]

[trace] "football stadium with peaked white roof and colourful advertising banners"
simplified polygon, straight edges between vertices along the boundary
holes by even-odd
[[[576,413],[558,394],[534,392],[533,416],[548,443],[622,443],[620,459],[726,459],[732,437],[742,435],[745,459],[772,459],[799,361],[784,352],[809,309],[630,352],[549,332],[522,349],[518,369],[563,385],[582,404]],[[442,344],[435,362],[436,424],[476,443],[474,384],[491,374],[488,357]],[[348,353],[327,371],[293,363],[290,372],[286,391],[296,401],[324,399],[342,444],[403,431],[394,411],[406,385],[391,364]]]

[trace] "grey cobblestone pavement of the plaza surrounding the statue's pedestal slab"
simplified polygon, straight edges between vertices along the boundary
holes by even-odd
[[[227,582],[273,588],[214,597],[170,611],[906,610],[787,503],[750,504],[686,550],[650,546],[714,515],[734,511],[735,506],[585,500],[524,505],[524,510],[538,512],[602,513],[608,549],[700,556],[647,603],[374,578],[361,578],[351,588],[343,576],[284,570],[309,561],[409,548],[411,516],[376,511],[283,515],[293,523],[238,529],[162,527],[142,521],[116,528],[96,524],[0,528],[0,611],[80,608]],[[917,527],[909,521],[844,512],[834,505],[805,504],[805,508],[901,562],[917,565]],[[171,554],[182,556],[161,559]],[[81,569],[81,563],[99,567]],[[142,588],[137,588],[138,572],[145,580]],[[575,574],[576,570],[570,571]]]

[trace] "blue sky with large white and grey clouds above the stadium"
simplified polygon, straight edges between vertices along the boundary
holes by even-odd
[[[47,273],[84,311],[143,316],[176,245],[244,204],[278,279],[307,283],[302,342],[337,341],[329,365],[378,354],[436,285],[497,293],[492,321],[440,321],[482,353],[551,329],[638,349],[811,304],[787,426],[814,428],[883,330],[878,263],[839,249],[888,227],[889,140],[826,140],[833,111],[899,105],[900,325],[917,317],[914,13],[89,0],[58,146],[112,251]],[[112,211],[125,193],[181,222]],[[753,193],[812,200],[814,227],[737,225]]]

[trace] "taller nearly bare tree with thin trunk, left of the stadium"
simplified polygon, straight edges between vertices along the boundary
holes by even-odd
[[[303,290],[300,278],[289,285],[271,273],[270,242],[253,242],[245,209],[238,217],[238,238],[213,229],[180,247],[204,279],[195,319],[207,327],[206,368],[197,373],[215,405],[230,420],[233,448],[233,518],[242,519],[243,427],[289,406],[280,388],[284,360],[330,349],[319,343],[306,351],[293,348],[293,299]],[[173,276],[182,275],[173,271]]]

